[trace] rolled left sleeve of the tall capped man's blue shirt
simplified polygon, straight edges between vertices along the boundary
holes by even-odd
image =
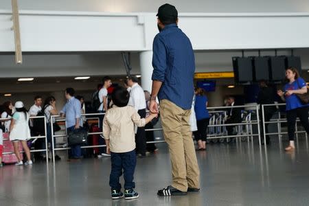
[[[166,47],[161,39],[161,36],[157,35],[152,45],[152,80],[158,80],[164,82],[165,70],[167,68],[166,63]]]

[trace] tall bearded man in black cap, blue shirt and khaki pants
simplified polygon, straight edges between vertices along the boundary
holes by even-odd
[[[190,39],[177,27],[178,12],[173,5],[161,5],[157,16],[159,34],[153,42],[150,111],[158,113],[158,97],[163,133],[172,163],[172,185],[157,194],[185,195],[200,190],[189,124],[194,95],[194,52]]]

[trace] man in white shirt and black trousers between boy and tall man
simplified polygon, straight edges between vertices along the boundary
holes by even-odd
[[[144,90],[139,86],[138,79],[134,76],[128,78],[128,86],[130,89],[130,100],[128,102],[129,106],[133,106],[141,118],[146,117],[146,100]],[[137,128],[135,135],[136,142],[136,152],[137,156],[146,156],[146,132],[144,127]]]

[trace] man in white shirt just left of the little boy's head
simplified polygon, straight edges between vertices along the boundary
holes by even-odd
[[[103,87],[99,91],[99,99],[100,99],[100,107],[98,108],[98,113],[106,113],[107,108],[108,108],[108,100],[107,100],[107,95],[108,91],[107,89],[111,87],[111,78],[109,76],[105,76],[103,78]],[[99,128],[102,129],[102,124],[103,124],[103,119],[104,115],[99,115]],[[103,138],[99,138],[99,145],[104,145],[105,141]],[[109,157],[111,155],[106,154],[106,148],[99,148],[100,154]]]

